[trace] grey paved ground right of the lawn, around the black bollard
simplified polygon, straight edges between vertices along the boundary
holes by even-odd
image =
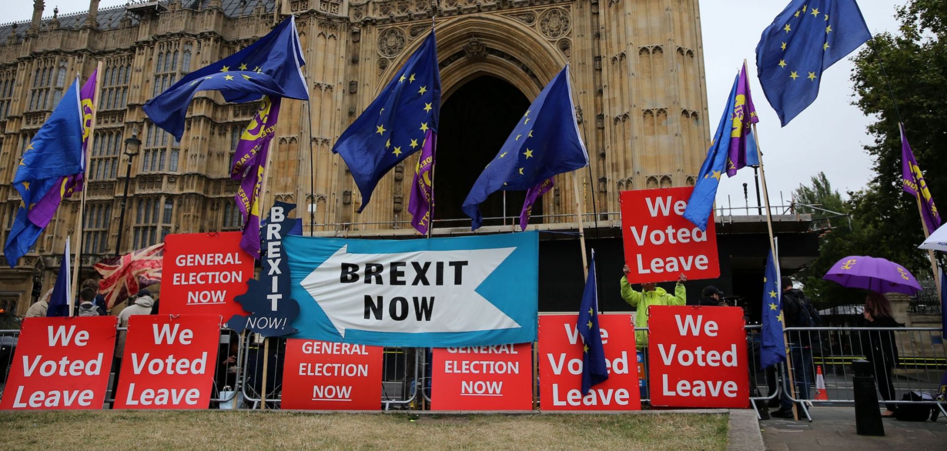
[[[777,418],[759,422],[763,442],[771,451],[813,451],[831,446],[834,450],[899,449],[920,451],[947,449],[947,420],[900,422],[884,419],[884,437],[855,434],[853,407],[813,407],[813,423]]]

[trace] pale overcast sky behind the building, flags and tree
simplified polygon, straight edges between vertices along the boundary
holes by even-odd
[[[894,18],[896,5],[906,0],[861,0],[862,13],[873,33],[893,31],[898,27]],[[8,20],[29,20],[32,0],[11,0],[5,5]],[[707,123],[717,126],[733,84],[733,77],[743,59],[751,74],[751,90],[759,113],[759,147],[765,153],[770,200],[779,204],[780,191],[785,203],[799,183],[809,183],[810,177],[825,171],[832,185],[843,191],[865,187],[871,176],[871,158],[862,146],[871,142],[866,135],[869,117],[855,106],[852,84],[849,80],[853,64],[849,59],[835,63],[822,76],[818,99],[785,128],[779,127],[776,112],[766,102],[759,88],[756,74],[755,51],[763,28],[788,4],[780,0],[702,0],[701,20],[704,30],[706,59],[707,101],[710,117]],[[59,7],[61,14],[88,9],[88,0],[46,0],[44,16],[52,15]],[[124,0],[102,0],[99,8],[125,4]],[[714,130],[710,130],[712,134]],[[706,152],[701,150],[700,152]],[[756,205],[752,170],[740,171],[733,178],[722,180],[717,193],[718,207],[728,203],[742,207],[742,184],[749,184],[750,205]],[[729,201],[727,196],[729,195]]]

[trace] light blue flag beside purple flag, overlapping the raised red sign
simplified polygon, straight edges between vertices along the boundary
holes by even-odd
[[[694,190],[690,191],[688,207],[685,208],[685,219],[697,225],[701,230],[707,228],[707,221],[710,220],[710,211],[713,209],[714,199],[717,197],[717,188],[720,186],[720,177],[727,170],[729,153],[731,146],[731,137],[734,135],[733,120],[734,111],[737,107],[737,92],[740,86],[740,75],[737,75],[733,81],[733,89],[730,90],[730,96],[726,99],[726,108],[724,115],[720,117],[720,124],[717,125],[717,133],[713,136],[713,142],[710,149],[707,150],[707,156],[701,171],[697,174],[697,183],[694,184]],[[746,135],[743,135],[744,139]],[[753,148],[756,152],[756,147]]]

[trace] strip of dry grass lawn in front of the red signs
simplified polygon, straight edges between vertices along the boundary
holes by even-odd
[[[413,420],[413,421],[412,421]],[[0,449],[723,450],[725,414],[463,415],[0,412]]]

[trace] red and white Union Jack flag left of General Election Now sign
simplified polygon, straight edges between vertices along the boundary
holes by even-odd
[[[98,294],[105,298],[107,309],[124,302],[138,290],[161,281],[161,258],[165,244],[138,249],[131,254],[112,257],[93,266],[102,280],[98,282]]]

